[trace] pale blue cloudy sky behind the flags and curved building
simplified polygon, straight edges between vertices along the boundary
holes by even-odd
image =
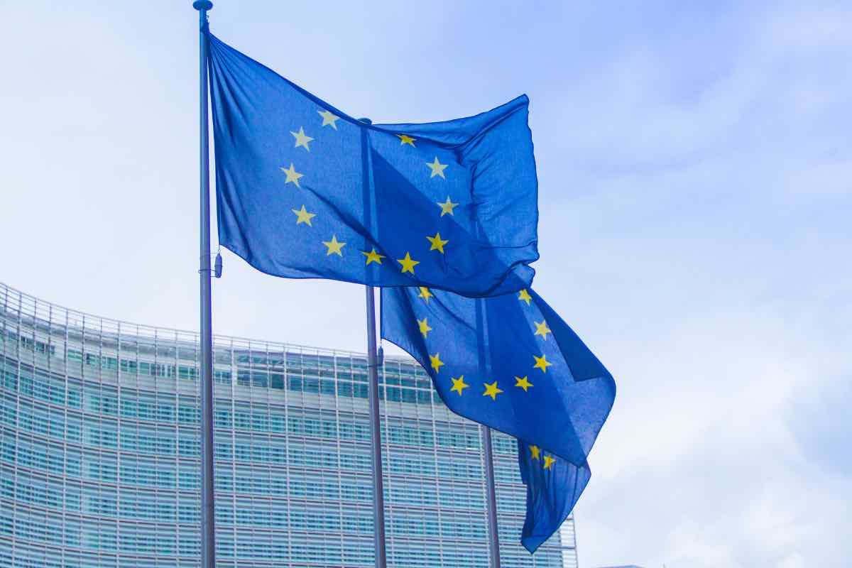
[[[197,328],[190,4],[0,0],[0,281]],[[619,388],[583,568],[848,565],[852,8],[604,4],[218,0],[210,25],[377,123],[530,96],[534,288]],[[364,350],[359,286],[223,256],[217,332]]]

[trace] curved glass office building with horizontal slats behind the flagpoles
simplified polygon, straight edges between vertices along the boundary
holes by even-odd
[[[0,284],[0,566],[199,565],[193,332]],[[366,357],[216,336],[221,566],[373,565]],[[479,427],[411,359],[379,372],[388,564],[488,565]],[[494,433],[502,564],[577,565],[573,519],[531,556],[515,441]]]

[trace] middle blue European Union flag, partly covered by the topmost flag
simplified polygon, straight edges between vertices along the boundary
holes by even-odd
[[[382,336],[423,365],[453,412],[578,466],[615,398],[613,376],[533,290],[384,288]]]

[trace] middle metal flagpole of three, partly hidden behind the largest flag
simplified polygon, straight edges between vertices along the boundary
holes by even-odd
[[[371,124],[369,118],[360,118],[362,123]],[[384,547],[384,487],[382,481],[382,430],[378,421],[378,358],[376,356],[376,298],[372,286],[365,286],[367,304],[367,373],[368,403],[370,404],[370,439],[372,445],[373,474],[373,543],[376,568],[388,564]]]

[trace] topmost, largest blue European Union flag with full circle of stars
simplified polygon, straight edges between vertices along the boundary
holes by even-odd
[[[371,125],[209,37],[222,246],[285,278],[469,296],[532,282],[526,96],[470,118]]]

